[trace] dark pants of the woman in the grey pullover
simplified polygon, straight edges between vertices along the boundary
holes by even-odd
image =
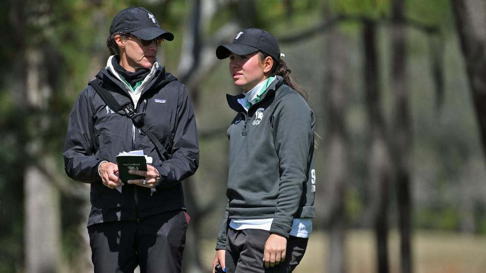
[[[225,265],[227,273],[292,272],[304,256],[307,238],[290,236],[286,258],[274,267],[265,268],[263,250],[270,233],[264,230],[228,229]]]

